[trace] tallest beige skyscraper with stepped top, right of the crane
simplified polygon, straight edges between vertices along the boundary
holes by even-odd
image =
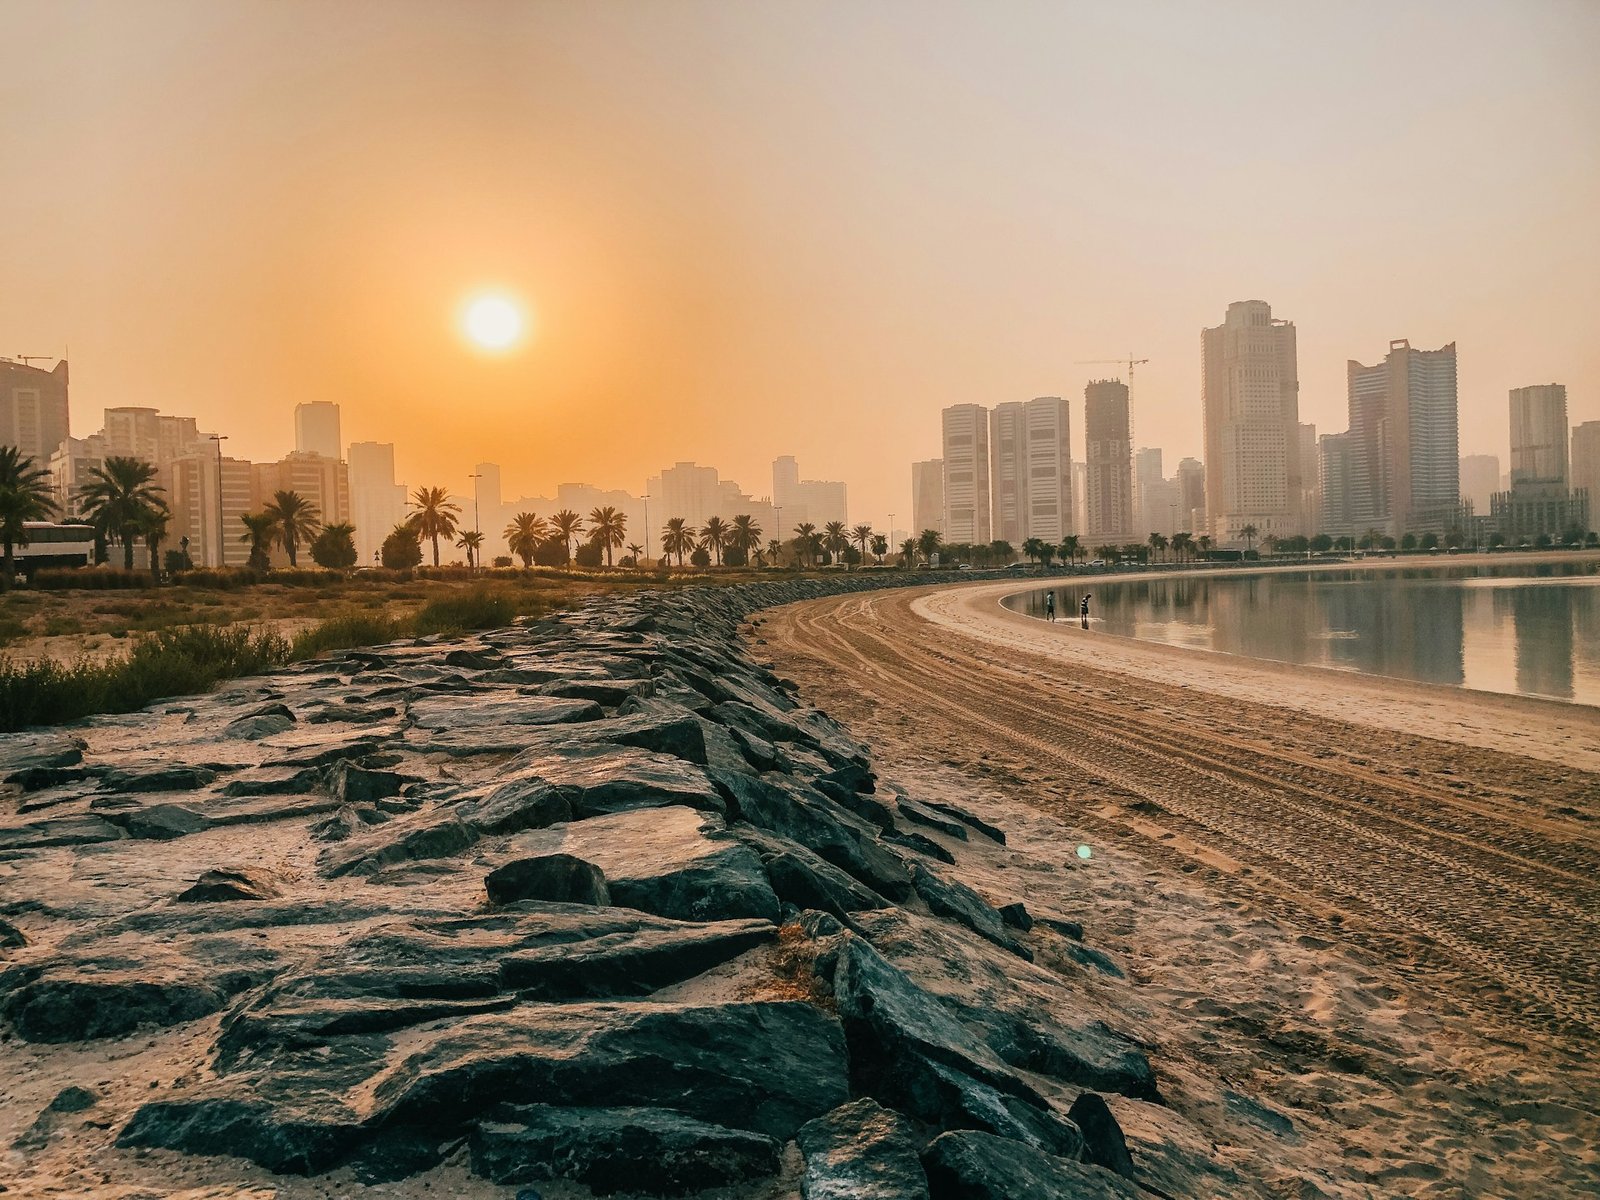
[[[1211,536],[1299,531],[1299,362],[1294,325],[1266,301],[1235,301],[1200,331]]]

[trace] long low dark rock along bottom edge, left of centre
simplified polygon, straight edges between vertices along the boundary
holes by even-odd
[[[506,1106],[470,1139],[472,1173],[496,1184],[571,1179],[595,1195],[683,1195],[778,1171],[778,1142],[667,1109]]]

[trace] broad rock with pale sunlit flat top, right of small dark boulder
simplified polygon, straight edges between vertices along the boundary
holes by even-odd
[[[762,861],[720,826],[715,816],[670,805],[520,834],[509,853],[576,854],[605,872],[611,904],[661,917],[776,922],[778,896]]]

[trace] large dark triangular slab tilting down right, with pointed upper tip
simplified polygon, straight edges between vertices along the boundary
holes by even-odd
[[[834,997],[858,1091],[938,1128],[982,1128],[1054,1154],[1080,1150],[1072,1125],[861,938],[846,936],[840,947]]]

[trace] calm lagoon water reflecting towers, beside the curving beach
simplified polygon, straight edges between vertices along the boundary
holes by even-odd
[[[1006,605],[1045,614],[1045,590]],[[1149,642],[1600,706],[1600,565],[1270,571],[1056,586]]]

